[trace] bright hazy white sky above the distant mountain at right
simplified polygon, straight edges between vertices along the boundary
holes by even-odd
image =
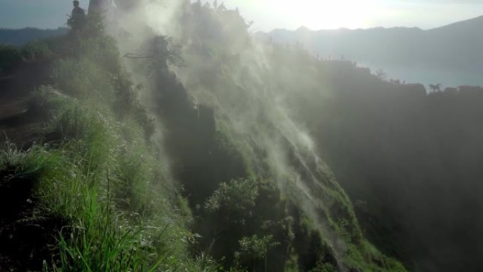
[[[220,2],[220,0],[218,0]],[[225,0],[254,20],[256,30],[434,28],[483,15],[483,0]]]

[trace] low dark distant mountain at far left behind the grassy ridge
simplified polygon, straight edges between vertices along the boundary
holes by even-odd
[[[0,29],[0,44],[23,45],[32,40],[62,35],[67,31],[67,28],[57,28],[54,30],[42,30],[37,28]]]

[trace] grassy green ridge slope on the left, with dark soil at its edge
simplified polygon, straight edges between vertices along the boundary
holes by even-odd
[[[118,54],[96,18],[0,52],[0,271],[212,269],[189,257],[189,211]]]

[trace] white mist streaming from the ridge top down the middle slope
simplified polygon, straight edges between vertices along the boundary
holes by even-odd
[[[304,66],[311,57],[296,48],[256,42],[239,12],[221,7],[146,1],[130,7],[127,13],[116,13],[114,21],[133,33],[127,41],[118,40],[124,50],[141,49],[154,35],[173,37],[181,46],[183,64],[170,69],[186,88],[193,107],[212,108],[217,126],[229,128],[229,136],[245,148],[252,161],[266,163],[266,171],[273,175],[282,195],[296,201],[309,215],[333,249],[339,269],[346,271],[339,260],[347,247],[327,218],[338,216],[330,215],[338,200],[328,191],[348,201],[347,196],[287,103],[294,92],[309,95],[318,91],[320,79],[307,76],[316,67]],[[131,73],[136,75],[136,71]],[[299,85],[301,82],[304,84]],[[153,97],[149,93],[153,91],[148,89],[141,97]],[[263,156],[256,154],[260,152]]]

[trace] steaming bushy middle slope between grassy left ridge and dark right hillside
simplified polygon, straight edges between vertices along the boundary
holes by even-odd
[[[166,85],[174,85],[168,80],[162,81],[156,94],[168,130],[179,131],[173,133],[176,137],[167,137],[167,143],[196,143],[189,156],[181,148],[173,148],[171,155],[179,165],[196,165],[188,167],[189,174],[181,167],[174,173],[188,191],[195,230],[203,237],[200,248],[227,266],[236,265],[241,253],[250,254],[241,258],[241,266],[249,271],[264,271],[266,266],[270,271],[405,271],[365,240],[349,197],[314,153],[303,127],[292,122],[299,114],[290,111],[299,110],[292,103],[311,100],[316,93],[330,95],[321,85],[332,67],[324,71],[320,61],[299,47],[256,44],[236,11],[197,3],[185,8],[181,12],[197,16],[176,22],[186,30],[175,39],[186,45],[182,52],[186,67],[177,69],[177,75],[200,109],[216,110],[196,112],[191,105],[176,103],[166,90]],[[342,70],[352,64],[340,66]],[[158,76],[163,74],[161,68]],[[163,105],[184,109],[186,116],[172,118],[176,110]],[[180,134],[208,137],[180,139]],[[222,148],[229,146],[234,148]],[[226,151],[229,156],[220,155]],[[247,186],[249,182],[255,185]],[[257,194],[246,189],[254,187]],[[198,208],[203,203],[208,211]],[[238,253],[232,254],[233,249]],[[258,249],[266,250],[263,258]]]

